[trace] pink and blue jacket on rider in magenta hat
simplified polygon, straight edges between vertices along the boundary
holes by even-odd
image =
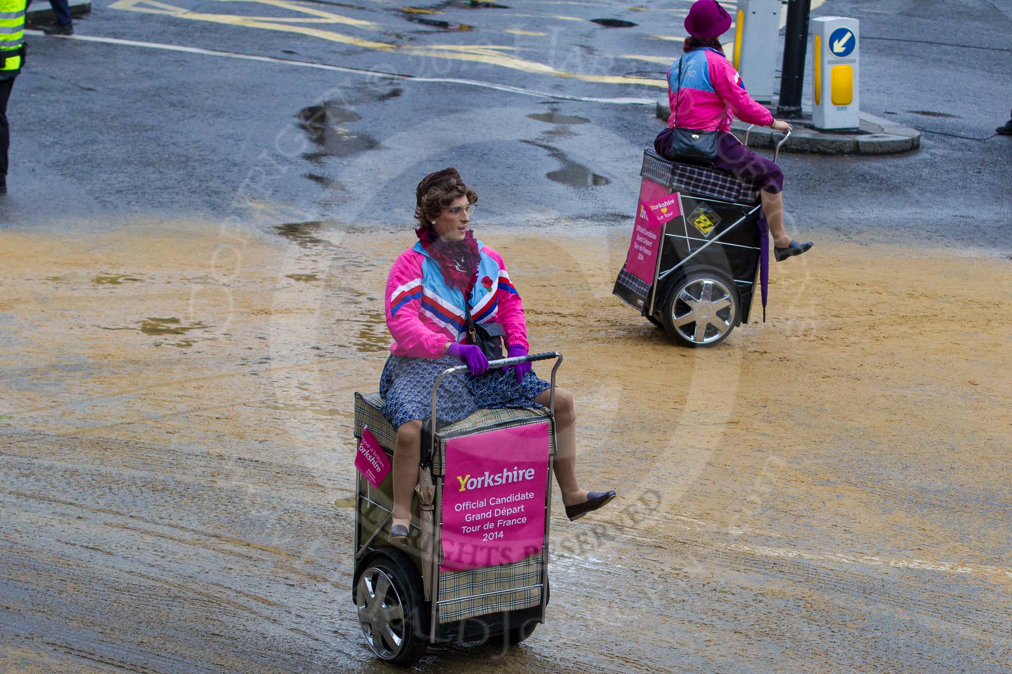
[[[681,89],[678,64],[681,62]],[[678,99],[675,99],[675,92]],[[668,69],[668,126],[702,131],[730,131],[732,114],[760,126],[773,123],[769,110],[752,100],[727,57],[709,47],[692,50]],[[677,107],[677,109],[676,109]]]

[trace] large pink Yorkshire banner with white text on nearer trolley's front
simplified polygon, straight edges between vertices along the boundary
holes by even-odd
[[[547,421],[446,441],[442,570],[540,554],[549,452]]]

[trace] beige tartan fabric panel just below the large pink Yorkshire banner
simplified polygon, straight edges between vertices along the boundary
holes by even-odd
[[[439,555],[442,562],[442,553]],[[521,588],[541,582],[541,556],[531,555],[512,564],[487,566],[468,571],[439,572],[439,601],[451,603],[438,607],[439,622],[453,622],[476,615],[487,615],[504,610],[519,610],[537,606],[541,602],[540,587],[517,589],[489,597],[475,595],[498,592],[514,587]]]

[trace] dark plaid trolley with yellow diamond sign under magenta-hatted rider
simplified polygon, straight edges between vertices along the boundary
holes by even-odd
[[[644,152],[640,201],[613,294],[687,347],[748,322],[762,251],[760,186]]]

